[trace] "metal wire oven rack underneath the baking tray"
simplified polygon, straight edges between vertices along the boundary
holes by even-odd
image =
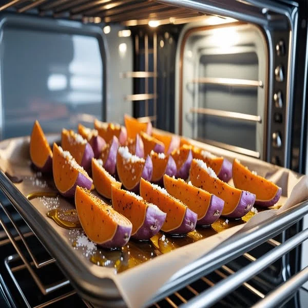
[[[41,257],[37,257],[38,240],[36,240],[36,245],[34,245],[35,248],[29,244],[29,239],[36,237],[27,228],[23,228],[25,232],[22,232],[20,223],[16,223],[16,216],[19,218],[20,216],[16,213],[15,209],[10,205],[4,205],[4,203],[0,203],[0,207],[2,214],[4,214],[0,216],[0,224],[7,236],[5,238],[5,235],[3,235],[0,246],[11,242],[17,252],[17,254],[9,255],[5,258],[5,268],[25,305],[30,308],[42,308],[56,302],[72,301],[77,298],[80,305],[93,307],[91,303],[78,297],[70,286],[70,282],[63,277],[60,269],[57,267],[56,260],[50,257],[41,245],[40,249],[45,251],[44,258],[42,258],[42,254],[40,254]],[[299,218],[308,212],[308,208],[303,204],[298,207],[297,212],[300,212],[296,216],[296,218]],[[13,226],[13,230],[9,225]],[[271,273],[275,271],[273,262],[306,239],[308,239],[308,229],[303,230],[284,243],[269,239],[265,242],[269,247],[268,253],[262,257],[254,257],[254,251],[244,253],[239,257],[241,264],[245,263],[243,260],[246,261],[246,266],[241,269],[237,270],[237,266],[234,263],[237,260],[230,261],[217,269],[213,268],[214,270],[206,276],[191,280],[185,287],[179,288],[175,292],[169,292],[167,295],[164,295],[163,299],[158,298],[155,303],[150,303],[148,306],[160,308],[175,308],[180,305],[183,307],[233,307],[235,305],[252,306],[255,304],[254,307],[276,307],[285,298],[294,294],[308,279],[308,268],[304,268],[300,273],[267,295],[269,290],[273,290],[273,285],[271,285],[269,278]],[[53,276],[57,279],[51,283],[44,283],[46,270],[52,271]],[[41,293],[42,298],[39,304],[31,305],[27,298],[27,291],[23,290],[23,283],[21,282],[25,279],[26,275],[28,275],[27,283],[30,283],[29,280],[32,280],[32,283],[36,285],[38,293]]]

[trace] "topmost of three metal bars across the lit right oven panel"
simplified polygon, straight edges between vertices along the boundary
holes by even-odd
[[[197,78],[192,79],[190,83],[223,85],[233,87],[260,87],[263,88],[263,82],[257,80],[234,79],[234,78]]]

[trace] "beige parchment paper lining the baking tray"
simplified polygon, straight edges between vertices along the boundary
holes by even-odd
[[[49,142],[52,143],[54,140],[59,139],[59,136],[49,136],[48,139]],[[243,232],[243,230],[251,228],[259,222],[275,216],[281,211],[308,199],[308,178],[306,176],[300,176],[285,168],[273,166],[257,159],[237,155],[236,153],[213,146],[199,142],[192,143],[216,155],[224,156],[231,162],[234,158],[238,158],[243,164],[247,165],[249,169],[257,171],[259,175],[264,176],[282,187],[282,197],[278,205],[283,205],[279,209],[269,209],[258,213],[245,224],[226,229],[209,238],[177,248],[170,253],[158,256],[148,262],[130,268],[123,273],[114,274],[111,268],[97,266],[86,259],[78,250],[73,249],[69,240],[70,235],[68,230],[57,226],[52,220],[46,217],[46,207],[44,207],[38,199],[31,201],[33,206],[35,206],[42,216],[54,227],[55,232],[63,239],[64,245],[67,245],[67,249],[70,249],[71,253],[75,254],[76,258],[79,258],[93,275],[102,279],[110,278],[114,281],[128,307],[136,308],[144,306],[164,283],[181,275],[181,269],[185,265],[204,256],[211,249],[218,246],[235,233]],[[20,189],[25,196],[33,192],[33,185],[31,184],[33,182],[31,180],[33,171],[31,171],[29,166],[29,138],[11,139],[0,143],[1,169],[3,171],[8,171],[11,175],[23,175],[29,178],[28,181],[16,184],[16,187]],[[232,181],[230,181],[230,184],[232,184]],[[46,191],[48,189],[48,187],[36,187],[36,191]],[[70,208],[72,204],[65,199],[61,199],[61,206]]]

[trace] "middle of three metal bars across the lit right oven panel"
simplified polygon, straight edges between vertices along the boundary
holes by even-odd
[[[243,120],[247,122],[262,123],[262,118],[260,115],[252,115],[246,113],[239,113],[233,111],[209,109],[209,108],[190,108],[191,113],[201,113],[206,115],[213,115],[213,117],[227,118],[227,119],[236,119]]]

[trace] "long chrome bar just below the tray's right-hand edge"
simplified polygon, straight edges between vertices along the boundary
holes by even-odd
[[[253,276],[263,271],[263,269],[265,269],[268,264],[275,262],[282,255],[285,255],[286,253],[290,252],[293,248],[304,242],[306,239],[308,239],[308,228],[303,230],[296,236],[286,240],[284,243],[277,246],[272,251],[260,257],[257,261],[252,262],[251,264],[239,269],[239,271],[237,271],[235,274],[228,276],[224,280],[218,282],[215,286],[194,297],[182,307],[188,308],[193,306],[194,308],[204,308],[212,306],[214,303],[218,302],[221,298],[223,298],[226,294],[234,291],[245,281],[251,279]],[[304,271],[303,276],[305,278],[308,277],[308,270]],[[287,285],[286,290],[293,290],[292,285]],[[290,295],[290,293],[286,293],[286,296],[288,295]],[[278,299],[279,296],[278,298],[277,295],[274,296],[274,298],[272,298],[273,303],[276,303],[275,300]],[[265,306],[267,307],[267,305]],[[262,305],[262,307],[264,307],[264,305]]]

